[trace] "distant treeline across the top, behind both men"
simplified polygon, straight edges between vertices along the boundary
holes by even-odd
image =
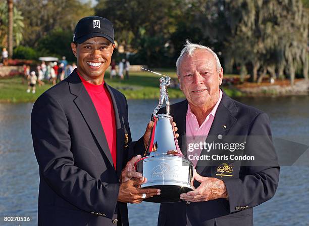
[[[22,36],[14,51],[18,58],[65,55],[74,60],[69,45],[74,25],[97,15],[113,22],[118,50],[130,52],[126,56],[132,64],[175,67],[190,39],[211,47],[225,72],[240,73],[242,79],[248,73],[252,81],[266,74],[288,76],[292,83],[296,75],[308,78],[308,0],[97,0],[95,7],[77,0],[14,3],[24,25],[15,31]]]

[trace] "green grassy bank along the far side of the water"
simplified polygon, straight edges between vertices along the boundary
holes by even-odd
[[[173,70],[158,70],[172,78],[177,78]],[[229,76],[229,75],[226,75]],[[130,78],[121,80],[119,78],[109,79],[109,73],[105,76],[106,82],[122,92],[127,99],[158,99],[159,98],[159,78],[150,72],[131,72]],[[21,77],[0,79],[0,102],[20,103],[34,102],[46,89],[52,87],[45,83],[44,86],[36,86],[36,93],[26,93],[27,84],[22,84]],[[231,96],[240,96],[241,93],[234,89],[224,89]],[[184,95],[178,88],[169,88],[170,98],[183,98]]]

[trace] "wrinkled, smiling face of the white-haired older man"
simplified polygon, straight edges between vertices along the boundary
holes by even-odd
[[[217,71],[216,59],[207,50],[196,50],[192,57],[184,55],[179,66],[180,88],[194,106],[209,105],[219,94],[223,69]]]

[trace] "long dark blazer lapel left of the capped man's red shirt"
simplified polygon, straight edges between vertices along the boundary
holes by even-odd
[[[76,96],[74,103],[83,115],[87,125],[89,126],[98,145],[100,146],[101,151],[107,156],[111,165],[113,166],[114,164],[112,155],[103,127],[101,125],[101,121],[98,117],[90,96],[88,95],[82,81],[76,72],[76,69],[67,78],[67,81],[69,82],[71,94]]]

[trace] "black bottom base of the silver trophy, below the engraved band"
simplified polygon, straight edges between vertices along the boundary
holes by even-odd
[[[150,183],[154,184],[154,183]],[[157,202],[157,203],[167,203],[167,202],[181,202],[183,200],[180,199],[180,194],[187,193],[192,191],[193,188],[191,186],[180,186],[180,183],[175,182],[175,185],[162,184],[162,185],[149,185],[148,183],[144,184],[146,186],[141,186],[141,188],[154,188],[160,189],[161,195],[155,195],[151,198],[144,199],[145,202]]]

